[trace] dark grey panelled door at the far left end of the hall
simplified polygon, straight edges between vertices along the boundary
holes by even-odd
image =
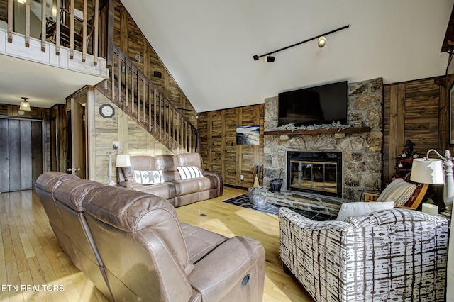
[[[43,173],[42,121],[0,118],[0,192],[33,189]]]

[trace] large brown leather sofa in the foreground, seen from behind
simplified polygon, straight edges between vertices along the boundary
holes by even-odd
[[[112,301],[262,301],[257,240],[180,223],[163,198],[70,174],[44,173],[36,191],[51,225],[62,222],[60,245]]]

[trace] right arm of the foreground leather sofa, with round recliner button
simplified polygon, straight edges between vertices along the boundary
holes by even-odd
[[[201,301],[229,297],[236,301],[262,301],[265,250],[258,240],[233,237],[197,262],[188,279]]]

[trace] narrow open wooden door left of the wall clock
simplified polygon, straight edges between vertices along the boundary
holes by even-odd
[[[87,179],[87,144],[85,135],[85,107],[79,100],[71,98],[71,172]]]

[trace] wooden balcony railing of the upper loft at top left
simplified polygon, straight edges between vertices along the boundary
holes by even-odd
[[[100,37],[106,37],[100,35],[100,32],[106,30],[106,26],[100,28],[99,20],[106,19],[107,1],[57,0],[52,7],[47,7],[46,4],[44,0],[26,0],[23,4],[8,0],[9,42],[13,40],[13,33],[22,33],[25,45],[29,47],[33,30],[34,38],[41,41],[42,51],[45,51],[46,42],[55,43],[57,55],[60,54],[60,47],[64,46],[69,49],[71,59],[74,57],[74,50],[79,50],[82,52],[82,62],[87,60],[89,54],[93,56],[93,64],[96,65],[100,56],[99,45],[106,45],[105,38],[103,41],[99,40]],[[32,18],[33,14],[35,16]],[[35,30],[38,27],[36,20],[40,22],[38,33]],[[104,51],[101,52],[105,54]]]

